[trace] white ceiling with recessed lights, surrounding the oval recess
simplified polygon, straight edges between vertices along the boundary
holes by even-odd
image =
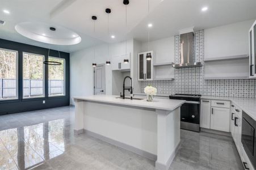
[[[256,18],[255,0],[130,0],[127,6],[127,29],[125,29],[125,6],[122,0],[0,0],[0,19],[6,24],[0,26],[0,38],[43,46],[16,33],[14,27],[21,22],[44,22],[65,27],[82,37],[81,43],[70,46],[59,46],[65,52],[74,52],[93,44],[118,42],[127,37],[146,41],[147,24],[150,28],[150,40],[177,35],[179,29],[192,27],[204,29],[217,27],[243,20]],[[208,11],[201,8],[208,6]],[[105,8],[111,8],[110,35],[107,33],[107,14]],[[10,11],[4,14],[3,9]],[[98,16],[93,33],[91,16]],[[51,48],[57,49],[52,45]]]

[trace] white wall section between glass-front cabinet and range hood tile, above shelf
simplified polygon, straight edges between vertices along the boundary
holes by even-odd
[[[153,50],[154,63],[174,62],[174,36],[156,41],[144,42],[141,45],[141,52]]]

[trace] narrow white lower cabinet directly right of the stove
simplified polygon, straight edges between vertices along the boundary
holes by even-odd
[[[211,100],[201,100],[200,127],[210,129],[211,125]]]

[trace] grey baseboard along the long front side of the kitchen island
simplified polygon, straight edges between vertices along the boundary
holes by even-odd
[[[139,148],[136,148],[136,147],[133,147],[133,146],[130,146],[130,145],[127,145],[125,143],[121,143],[119,141],[115,141],[114,139],[110,139],[108,137],[104,137],[103,135],[100,135],[100,134],[96,134],[92,131],[89,131],[89,130],[85,130],[83,129],[83,132],[87,135],[90,135],[94,138],[97,138],[97,139],[100,139],[104,142],[107,142],[107,143],[110,143],[112,145],[115,145],[117,147],[120,147],[120,148],[123,148],[125,150],[128,150],[128,151],[131,151],[131,152],[134,152],[135,154],[138,154],[138,155],[141,155],[141,156],[144,156],[145,158],[148,158],[150,160],[154,160],[156,161],[157,160],[157,155],[154,155],[154,154],[151,154],[149,152],[146,152],[146,151],[143,151],[143,150],[140,150]]]

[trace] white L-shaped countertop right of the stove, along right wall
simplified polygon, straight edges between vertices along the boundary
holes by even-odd
[[[256,120],[256,99],[242,97],[217,97],[217,96],[202,96],[201,99],[209,100],[229,100],[240,107],[251,118]]]

